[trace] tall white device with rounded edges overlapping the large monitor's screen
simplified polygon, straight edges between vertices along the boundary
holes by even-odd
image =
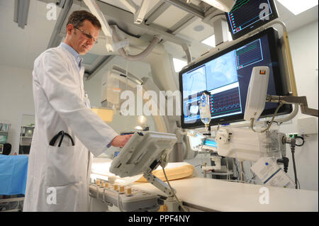
[[[244,119],[250,121],[252,118],[257,120],[266,103],[267,89],[269,81],[269,67],[254,67],[250,85],[247,91],[247,101]]]

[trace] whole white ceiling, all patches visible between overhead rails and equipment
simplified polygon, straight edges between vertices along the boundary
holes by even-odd
[[[113,4],[118,8],[125,9],[125,6],[118,0],[103,0],[108,4]],[[142,0],[134,0],[135,4],[140,4]],[[153,6],[162,0],[152,1],[149,11]],[[192,0],[198,3],[198,0]],[[47,43],[52,35],[52,30],[56,21],[48,21],[46,14],[47,4],[38,0],[30,0],[30,9],[28,13],[28,24],[22,29],[18,28],[18,24],[13,22],[14,1],[0,0],[0,64],[11,67],[21,67],[26,69],[33,68],[33,62],[41,52],[45,51]],[[74,6],[78,7],[79,6]],[[289,31],[296,30],[313,21],[318,21],[318,6],[304,13],[294,16],[284,6],[277,3],[279,16],[281,21],[286,23]],[[73,9],[73,8],[72,8]],[[74,9],[75,10],[75,9]],[[127,10],[127,9],[125,9]],[[57,16],[59,16],[60,8],[57,8]],[[178,9],[176,6],[169,6],[154,23],[164,28],[172,28],[187,13]],[[203,30],[195,31],[196,26],[203,26]],[[194,57],[198,57],[210,47],[200,42],[213,35],[213,28],[203,23],[200,18],[194,20],[183,30],[180,30],[177,36],[191,40],[191,52]],[[184,57],[184,52],[179,45],[165,42],[164,46],[167,51],[174,57]],[[0,72],[1,73],[1,72]]]

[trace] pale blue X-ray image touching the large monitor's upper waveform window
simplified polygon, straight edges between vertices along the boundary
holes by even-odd
[[[207,63],[207,90],[211,91],[238,81],[235,51]]]

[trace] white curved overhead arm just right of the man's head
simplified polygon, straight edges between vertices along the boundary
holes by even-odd
[[[112,29],[108,25],[108,21],[106,21],[106,18],[104,17],[102,11],[99,9],[99,6],[96,4],[95,0],[84,0],[84,3],[89,8],[92,14],[96,16],[96,18],[99,19],[102,31],[104,35],[106,35],[106,50],[108,52],[113,52],[113,40],[112,40]]]

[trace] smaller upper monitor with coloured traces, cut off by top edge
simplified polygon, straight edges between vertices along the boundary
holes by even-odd
[[[233,40],[278,18],[274,0],[237,0],[226,13]]]

